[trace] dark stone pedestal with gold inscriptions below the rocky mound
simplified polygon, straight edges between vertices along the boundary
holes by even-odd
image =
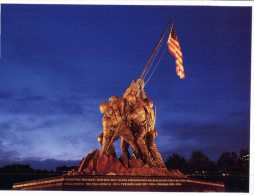
[[[14,190],[224,192],[224,184],[147,176],[59,176],[15,183]]]

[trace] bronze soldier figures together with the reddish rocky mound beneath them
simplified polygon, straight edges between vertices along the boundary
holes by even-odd
[[[100,104],[102,132],[96,149],[67,175],[137,175],[185,177],[168,171],[156,146],[155,110],[147,98],[142,79],[132,81],[123,96],[111,96]],[[117,157],[114,142],[121,139],[122,155]],[[130,149],[129,149],[130,147]],[[132,151],[132,152],[130,152]]]

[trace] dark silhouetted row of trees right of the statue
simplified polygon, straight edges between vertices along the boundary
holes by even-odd
[[[212,161],[202,151],[194,151],[189,159],[173,153],[166,159],[168,169],[179,169],[186,175],[249,175],[249,149],[223,152],[217,161]]]

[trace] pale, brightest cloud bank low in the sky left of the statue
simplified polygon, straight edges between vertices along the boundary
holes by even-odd
[[[29,123],[26,123],[30,120]],[[15,122],[14,122],[15,121]],[[14,159],[80,159],[96,147],[99,124],[82,117],[13,117],[12,125],[1,129],[2,150],[15,152]],[[6,126],[9,123],[1,123]]]

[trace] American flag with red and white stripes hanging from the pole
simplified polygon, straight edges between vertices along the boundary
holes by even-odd
[[[168,37],[168,51],[175,57],[176,59],[176,74],[181,78],[185,78],[184,68],[183,68],[183,54],[181,51],[181,47],[176,36],[176,31],[174,25],[171,28],[171,32]]]

